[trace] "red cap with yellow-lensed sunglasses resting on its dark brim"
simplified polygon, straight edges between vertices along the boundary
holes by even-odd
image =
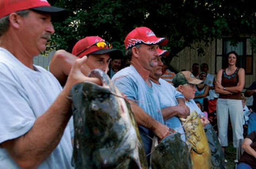
[[[89,54],[101,55],[106,53],[109,53],[111,58],[114,56],[123,57],[120,50],[110,49],[108,46],[106,46],[106,48],[98,47],[97,45],[94,45],[97,42],[105,42],[105,40],[99,36],[87,36],[80,39],[73,47],[72,54],[78,56],[79,58]]]

